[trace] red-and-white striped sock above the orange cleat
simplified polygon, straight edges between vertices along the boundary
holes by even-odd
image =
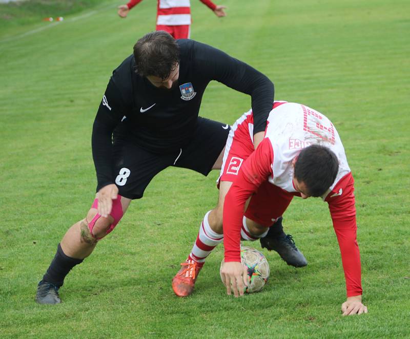
[[[199,227],[198,236],[194,247],[187,260],[193,260],[202,266],[205,259],[211,254],[212,250],[223,240],[223,234],[218,234],[212,230],[208,222],[210,211],[207,212]]]

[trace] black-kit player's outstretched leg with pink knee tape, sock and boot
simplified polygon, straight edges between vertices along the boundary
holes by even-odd
[[[66,232],[42,281],[37,287],[36,301],[40,304],[60,303],[58,289],[70,270],[83,262],[94,250],[97,241],[111,232],[127,210],[131,199],[118,196],[108,218],[97,214],[97,198],[87,217]]]

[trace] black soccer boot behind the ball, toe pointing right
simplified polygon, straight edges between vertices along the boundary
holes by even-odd
[[[290,234],[284,234],[282,229],[282,217],[269,228],[268,234],[265,237],[260,238],[260,245],[269,251],[274,250],[278,252],[280,258],[288,265],[294,267],[304,267],[308,265],[308,261],[296,247],[292,236]]]

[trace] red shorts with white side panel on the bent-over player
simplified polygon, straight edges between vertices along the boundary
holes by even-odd
[[[243,162],[254,151],[252,111],[244,113],[231,128],[228,136],[220,181],[234,182]],[[244,216],[256,223],[270,227],[288,208],[294,195],[265,181],[251,198]]]

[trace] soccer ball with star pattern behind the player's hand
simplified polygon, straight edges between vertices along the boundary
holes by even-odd
[[[259,292],[263,286],[265,286],[269,278],[270,271],[268,260],[257,249],[247,246],[241,246],[240,259],[242,264],[248,268],[248,287],[245,289],[245,292]],[[222,259],[219,274],[223,264],[224,261]]]

